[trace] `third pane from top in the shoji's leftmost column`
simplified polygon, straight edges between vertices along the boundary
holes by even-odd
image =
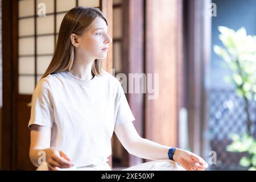
[[[35,38],[19,39],[19,55],[34,55]]]

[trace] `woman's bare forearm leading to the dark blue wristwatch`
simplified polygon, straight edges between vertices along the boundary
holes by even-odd
[[[135,156],[144,159],[159,160],[169,159],[168,150],[171,147],[152,142],[151,140],[139,138],[134,141],[131,146],[127,147],[127,151]]]

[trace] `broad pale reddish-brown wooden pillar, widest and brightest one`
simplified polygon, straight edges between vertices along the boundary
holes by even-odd
[[[146,1],[145,69],[159,74],[159,94],[145,98],[145,137],[167,146],[177,146],[178,8],[178,0]]]

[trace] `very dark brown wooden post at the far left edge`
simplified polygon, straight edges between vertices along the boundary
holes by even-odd
[[[2,47],[3,54],[3,109],[2,109],[2,165],[1,169],[11,170],[14,166],[14,151],[13,151],[13,121],[14,115],[14,75],[13,72],[13,59],[14,59],[14,44],[13,44],[13,28],[15,26],[16,18],[16,1],[2,1],[2,43],[6,43]],[[10,22],[10,20],[14,20]]]

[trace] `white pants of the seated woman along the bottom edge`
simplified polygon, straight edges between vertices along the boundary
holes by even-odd
[[[82,168],[66,168],[61,169],[63,171],[111,171],[108,163],[104,163],[98,166],[88,166]],[[48,171],[47,163],[39,166],[36,171]],[[176,162],[168,159],[152,160],[151,162],[142,163],[137,166],[123,169],[122,171],[184,171]]]

